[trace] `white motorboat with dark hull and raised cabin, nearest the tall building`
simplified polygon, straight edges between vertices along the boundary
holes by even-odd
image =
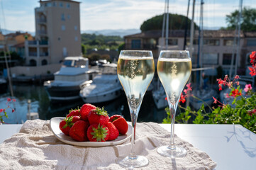
[[[89,69],[84,57],[65,57],[62,67],[54,74],[53,81],[45,81],[44,86],[51,102],[72,101],[80,98],[81,84],[90,84],[99,71]]]

